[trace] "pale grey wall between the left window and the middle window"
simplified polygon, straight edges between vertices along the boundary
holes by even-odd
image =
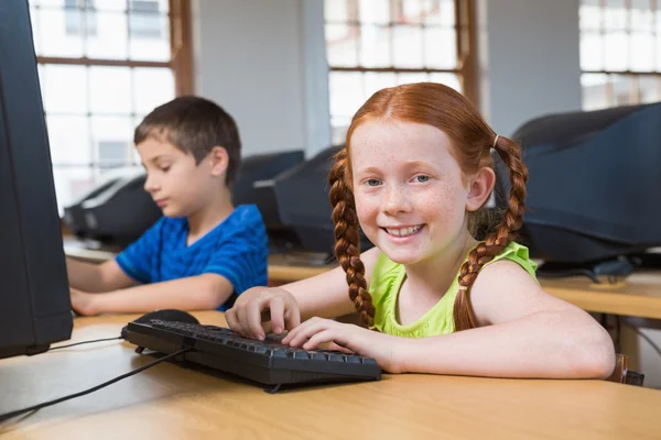
[[[310,25],[315,16],[323,24],[323,2],[307,3],[193,2],[195,92],[236,118],[245,156],[329,142],[323,28]]]

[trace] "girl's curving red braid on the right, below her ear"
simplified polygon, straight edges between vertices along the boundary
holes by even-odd
[[[502,136],[495,141],[494,147],[509,169],[509,207],[496,231],[487,235],[485,241],[470,252],[468,260],[462,266],[459,292],[453,310],[455,331],[475,327],[468,295],[470,287],[483,266],[508,246],[516,237],[514,231],[523,224],[523,200],[525,198],[528,168],[521,160],[521,148],[516,142]]]

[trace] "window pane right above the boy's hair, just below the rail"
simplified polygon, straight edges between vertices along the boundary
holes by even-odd
[[[134,68],[134,112],[147,114],[174,98],[174,77],[169,68]]]

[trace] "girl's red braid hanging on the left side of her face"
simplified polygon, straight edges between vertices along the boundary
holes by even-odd
[[[371,295],[367,292],[365,265],[360,261],[360,235],[354,194],[345,180],[347,163],[347,151],[343,148],[335,156],[335,164],[328,174],[329,200],[335,224],[335,256],[347,275],[349,298],[354,301],[356,311],[371,328],[375,321],[375,307]]]

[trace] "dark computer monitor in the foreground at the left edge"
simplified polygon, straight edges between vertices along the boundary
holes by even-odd
[[[73,318],[26,0],[0,1],[0,358],[71,338]]]

